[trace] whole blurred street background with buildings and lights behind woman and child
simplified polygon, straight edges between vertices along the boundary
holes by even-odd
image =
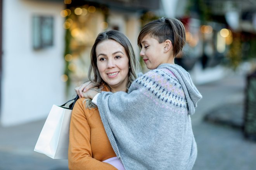
[[[87,80],[100,32],[123,32],[141,61],[140,29],[163,16],[185,25],[175,63],[203,95],[193,170],[256,169],[256,0],[0,0],[0,170],[67,170],[33,151],[52,105]]]

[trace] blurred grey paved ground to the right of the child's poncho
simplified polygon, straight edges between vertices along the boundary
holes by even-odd
[[[256,169],[256,141],[245,139],[240,127],[245,86],[246,77],[237,75],[198,86],[203,99],[192,116],[198,147],[193,170]]]

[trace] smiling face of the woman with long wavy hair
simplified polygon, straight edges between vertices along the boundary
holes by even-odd
[[[129,58],[125,48],[114,40],[104,40],[96,46],[96,57],[100,76],[112,92],[126,91]]]

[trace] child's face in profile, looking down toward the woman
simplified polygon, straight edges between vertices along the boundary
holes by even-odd
[[[164,55],[164,42],[159,43],[156,39],[146,35],[140,43],[142,45],[140,56],[143,57],[148,69],[155,69],[157,66],[168,62],[166,55]]]

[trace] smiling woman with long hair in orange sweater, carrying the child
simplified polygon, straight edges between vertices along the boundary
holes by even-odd
[[[130,41],[124,34],[119,31],[107,31],[97,36],[91,51],[88,78],[100,90],[127,92],[139,72],[140,65]],[[116,154],[100,119],[99,110],[91,100],[79,99],[71,116],[69,169],[119,169],[106,163],[115,158]]]

